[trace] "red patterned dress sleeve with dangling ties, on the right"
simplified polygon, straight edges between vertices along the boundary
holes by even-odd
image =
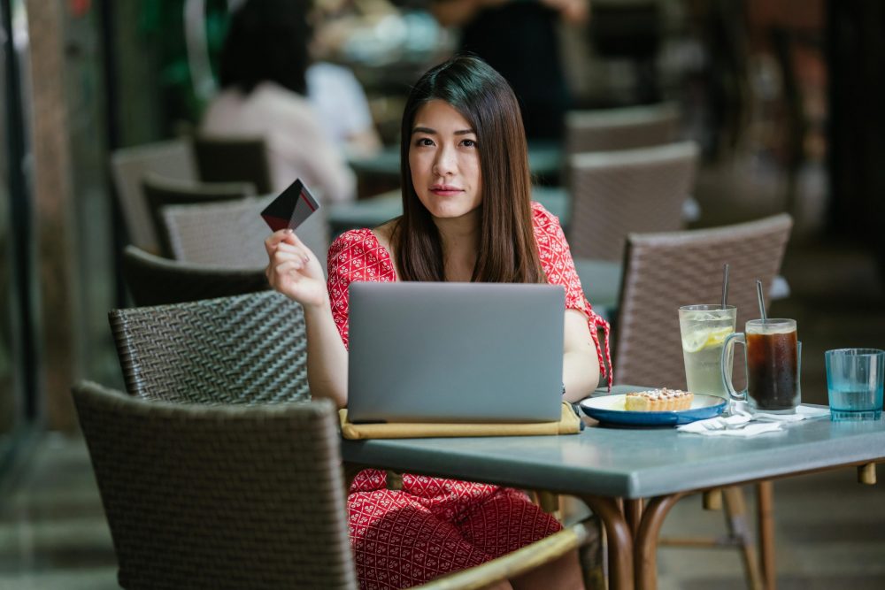
[[[532,203],[532,218],[535,227],[535,241],[541,264],[551,285],[562,285],[566,288],[566,309],[579,310],[587,316],[590,336],[596,344],[596,356],[599,359],[599,374],[605,375],[608,387],[612,388],[613,369],[612,352],[609,349],[611,326],[603,318],[596,315],[581,288],[581,279],[574,269],[572,251],[568,248],[566,234],[559,225],[559,219],[543,208],[541,203]],[[599,330],[603,331],[604,342],[599,341]]]

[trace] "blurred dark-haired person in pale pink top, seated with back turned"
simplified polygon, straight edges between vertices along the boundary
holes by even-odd
[[[234,11],[221,51],[221,92],[201,129],[263,136],[276,191],[300,178],[326,203],[350,201],[355,176],[307,97],[310,9],[309,2],[248,0]]]

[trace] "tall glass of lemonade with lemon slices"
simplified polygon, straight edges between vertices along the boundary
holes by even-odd
[[[734,305],[683,305],[679,308],[682,358],[689,391],[728,400],[722,380],[722,344],[735,331]],[[731,366],[730,363],[727,364]],[[731,375],[728,375],[731,378]]]

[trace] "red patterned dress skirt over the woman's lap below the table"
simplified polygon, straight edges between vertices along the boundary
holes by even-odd
[[[413,479],[433,480],[447,491],[425,496],[382,489],[348,496],[361,588],[419,585],[503,556],[561,528],[513,489]]]

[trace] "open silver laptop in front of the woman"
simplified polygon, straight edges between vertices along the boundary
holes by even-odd
[[[565,291],[502,283],[351,283],[351,422],[561,417]]]

